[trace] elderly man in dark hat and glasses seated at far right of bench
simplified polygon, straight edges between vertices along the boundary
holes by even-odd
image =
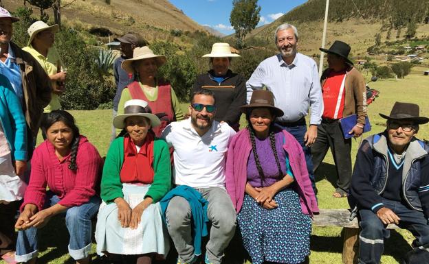
[[[396,102],[386,130],[365,139],[351,179],[351,204],[360,220],[359,262],[380,263],[388,224],[415,235],[415,248],[429,248],[429,145],[415,134],[429,118],[417,104]]]

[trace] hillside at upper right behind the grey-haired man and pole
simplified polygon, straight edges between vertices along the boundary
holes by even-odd
[[[265,27],[254,29],[247,38],[267,40],[273,48],[278,25],[291,23],[298,29],[298,47],[307,55],[320,53],[325,0],[310,0],[281,16]],[[375,44],[375,35],[382,41],[390,32],[390,40],[405,38],[408,25],[415,23],[415,36],[426,37],[429,32],[429,0],[330,0],[327,44],[342,40],[352,47],[353,56],[365,55]]]

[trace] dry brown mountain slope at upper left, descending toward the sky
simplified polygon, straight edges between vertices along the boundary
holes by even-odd
[[[2,0],[10,11],[23,5],[22,0]],[[27,3],[28,6],[31,6]],[[207,30],[192,21],[168,0],[62,0],[62,21],[84,28],[108,28],[114,36],[136,32],[146,40],[167,39],[171,30],[195,32]],[[39,14],[32,7],[34,15]],[[52,9],[47,14],[53,19]]]

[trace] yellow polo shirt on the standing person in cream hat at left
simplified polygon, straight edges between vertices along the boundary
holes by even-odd
[[[39,51],[36,51],[36,49],[34,49],[31,44],[27,47],[24,47],[23,50],[30,53],[39,62],[39,64],[41,64],[41,67],[43,70],[45,70],[47,75],[54,75],[58,73],[58,69],[61,69],[63,66],[63,62],[61,61],[61,58],[55,47],[52,47],[47,51],[47,57],[43,56],[41,53],[39,53]],[[56,81],[51,81],[51,83],[52,88],[56,88]],[[51,112],[52,110],[58,110],[60,108],[61,104],[58,95],[52,93],[50,104],[48,104],[43,109],[43,112]]]

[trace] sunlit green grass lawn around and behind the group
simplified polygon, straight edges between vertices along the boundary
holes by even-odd
[[[423,76],[424,67],[413,68],[412,74],[401,80],[379,80],[371,83],[371,87],[380,91],[373,104],[369,106],[369,118],[372,131],[365,134],[382,132],[385,120],[378,115],[379,112],[389,114],[395,101],[408,101],[417,103],[423,116],[429,116],[428,91],[429,76]],[[182,104],[186,110],[188,104]],[[96,145],[102,156],[107,153],[111,131],[111,110],[70,111],[76,117],[81,134],[88,137]],[[242,118],[243,121],[243,118]],[[243,124],[243,123],[242,123]],[[421,125],[419,139],[429,139],[429,125]],[[39,137],[39,143],[41,138]],[[353,142],[352,156],[355,156],[360,139]],[[319,190],[318,201],[320,208],[348,208],[346,199],[335,199],[331,196],[334,191],[335,167],[330,153],[325,158],[320,170],[316,174]],[[41,259],[39,263],[74,263],[67,254],[68,235],[63,219],[52,219],[54,224],[42,231],[40,239]],[[391,231],[391,239],[386,241],[386,250],[382,257],[383,264],[401,263],[401,258],[410,250],[413,236],[408,231]],[[95,245],[93,245],[95,252]],[[311,263],[340,264],[342,252],[341,228],[314,228],[311,237]],[[95,256],[95,254],[94,254]],[[3,264],[0,261],[0,264]]]

